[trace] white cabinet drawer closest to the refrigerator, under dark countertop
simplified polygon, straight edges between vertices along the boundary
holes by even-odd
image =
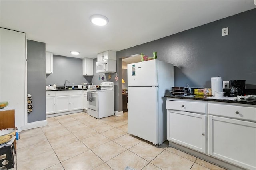
[[[206,104],[202,102],[189,102],[189,101],[166,101],[166,109],[206,113]]]

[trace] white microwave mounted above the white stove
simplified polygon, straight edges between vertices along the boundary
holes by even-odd
[[[116,60],[105,59],[96,62],[96,73],[115,73]]]

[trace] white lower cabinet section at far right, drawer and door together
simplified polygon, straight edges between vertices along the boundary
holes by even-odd
[[[209,154],[256,170],[256,108],[208,104],[208,114]]]

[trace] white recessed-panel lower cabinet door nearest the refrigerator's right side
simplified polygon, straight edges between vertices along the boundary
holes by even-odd
[[[167,140],[206,153],[206,115],[168,109]]]

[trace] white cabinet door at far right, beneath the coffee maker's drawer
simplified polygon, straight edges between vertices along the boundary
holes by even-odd
[[[209,115],[209,154],[256,169],[256,123]]]

